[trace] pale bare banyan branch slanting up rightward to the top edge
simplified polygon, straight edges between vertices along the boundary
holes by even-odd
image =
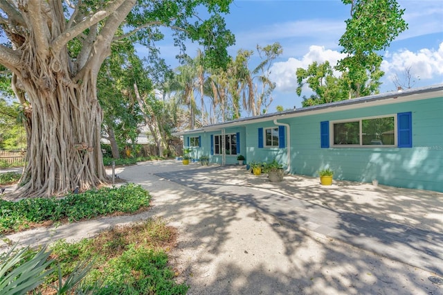
[[[38,0],[37,0],[38,1]],[[99,21],[109,17],[109,15],[113,14],[116,10],[120,8],[120,6],[127,6],[127,2],[131,3],[131,9],[134,6],[135,2],[125,1],[125,0],[115,0],[112,1],[109,5],[107,5],[102,10],[94,13],[84,21],[76,24],[75,26],[68,28],[64,33],[60,34],[57,38],[54,39],[51,44],[51,51],[57,53],[61,50],[61,48],[66,45],[69,41],[74,39],[77,35],[82,33],[87,28],[91,27],[93,24],[97,24]],[[129,11],[131,10],[129,9]],[[129,11],[127,13],[129,13]],[[118,23],[118,26],[121,24],[121,21]]]

